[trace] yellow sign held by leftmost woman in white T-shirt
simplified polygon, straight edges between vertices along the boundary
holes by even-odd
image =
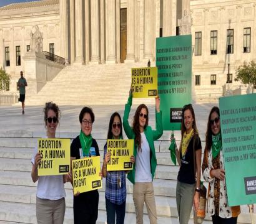
[[[38,152],[42,159],[38,166],[38,175],[62,175],[69,172],[70,139],[38,139]]]

